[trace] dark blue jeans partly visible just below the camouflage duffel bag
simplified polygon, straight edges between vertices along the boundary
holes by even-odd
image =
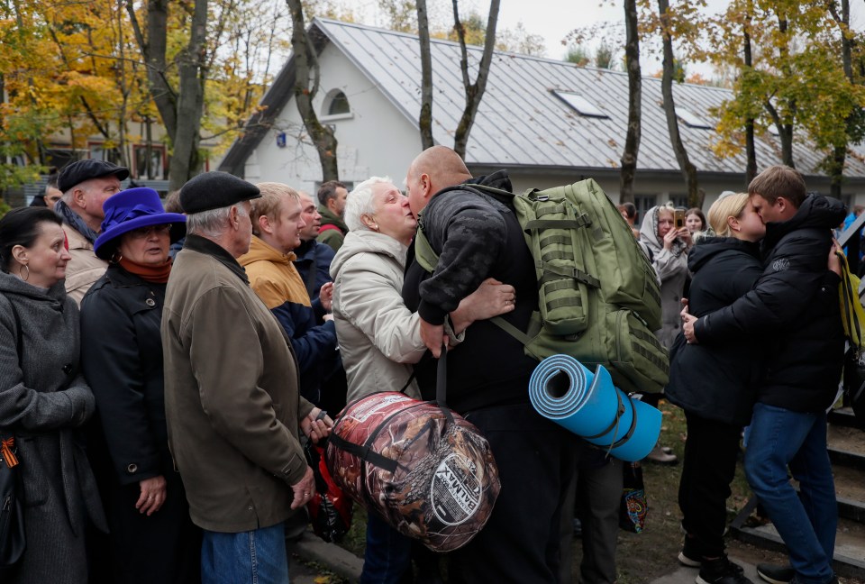
[[[373,512],[367,516],[367,549],[360,584],[412,581],[412,541]]]

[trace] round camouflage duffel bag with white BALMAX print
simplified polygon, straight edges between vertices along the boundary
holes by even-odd
[[[500,488],[478,428],[447,407],[398,392],[345,406],[326,457],[351,498],[434,552],[469,543],[487,523]]]

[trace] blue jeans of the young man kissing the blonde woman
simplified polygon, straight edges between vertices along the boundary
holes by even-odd
[[[790,485],[788,466],[801,497]],[[831,580],[838,504],[826,452],[826,415],[755,405],[745,476],[787,545],[797,579]]]

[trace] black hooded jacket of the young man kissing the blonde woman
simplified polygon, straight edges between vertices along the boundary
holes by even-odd
[[[766,224],[763,274],[751,292],[697,320],[706,347],[766,337],[765,374],[757,401],[797,412],[833,402],[841,378],[844,333],[839,278],[827,269],[841,201],[809,195],[788,221]]]

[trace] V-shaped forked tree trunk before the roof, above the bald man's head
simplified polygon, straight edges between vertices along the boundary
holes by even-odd
[[[466,30],[460,22],[459,0],[453,2],[453,27],[460,37],[460,68],[462,69],[462,86],[466,89],[466,107],[457,124],[457,130],[453,136],[453,150],[466,158],[466,145],[469,142],[471,126],[475,123],[475,114],[478,113],[478,105],[487,90],[487,78],[489,78],[489,66],[493,60],[493,51],[496,50],[496,23],[498,22],[498,7],[501,0],[491,0],[489,3],[489,17],[487,18],[487,37],[484,39],[484,54],[478,64],[478,78],[472,84],[469,81],[469,51],[466,49]]]

